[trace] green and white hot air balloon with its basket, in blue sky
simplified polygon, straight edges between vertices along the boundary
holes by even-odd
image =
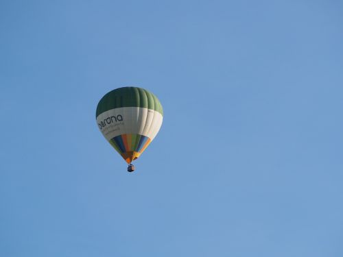
[[[137,87],[117,88],[97,104],[97,125],[106,140],[128,162],[141,156],[155,138],[163,121],[163,108],[157,97]]]

